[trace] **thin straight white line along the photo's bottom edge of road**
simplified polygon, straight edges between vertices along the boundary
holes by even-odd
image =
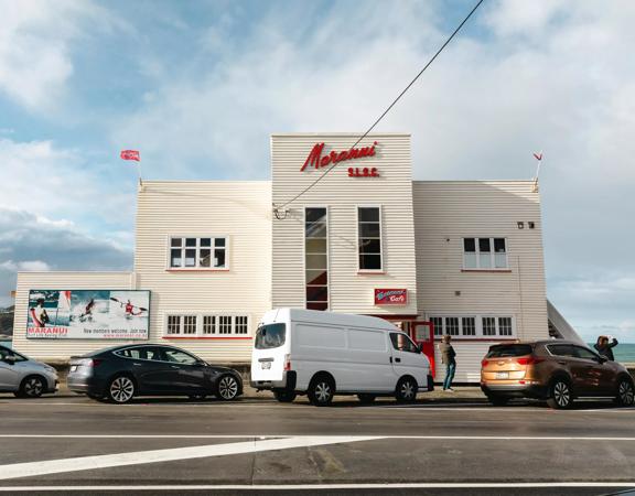
[[[386,483],[386,484],[196,484],[196,485],[128,485],[128,486],[10,486],[0,493],[18,492],[99,492],[99,490],[315,490],[315,489],[474,489],[474,488],[545,488],[545,487],[635,487],[633,482],[541,482],[541,483]]]

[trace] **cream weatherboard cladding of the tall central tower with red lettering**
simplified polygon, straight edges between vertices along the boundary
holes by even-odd
[[[326,168],[304,164],[315,143],[324,154],[348,150],[359,134],[273,134],[271,137],[272,201],[282,205],[309,186]],[[273,308],[304,308],[305,206],[329,207],[330,309],[365,314],[417,314],[412,177],[409,134],[373,134],[357,148],[372,147],[375,155],[337,163],[299,200],[290,204],[286,219],[272,222]],[[348,168],[377,168],[378,177],[348,177]],[[384,272],[357,273],[357,206],[381,206]],[[374,304],[375,288],[405,288],[409,303]]]

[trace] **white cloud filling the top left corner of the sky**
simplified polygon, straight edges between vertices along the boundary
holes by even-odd
[[[1,0],[0,11],[0,91],[39,112],[64,96],[74,44],[112,21],[90,0]]]

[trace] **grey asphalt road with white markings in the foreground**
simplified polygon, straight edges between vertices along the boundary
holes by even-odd
[[[359,487],[363,484],[364,486]],[[187,487],[183,487],[187,486]],[[635,488],[635,409],[0,395],[0,495],[617,494]]]

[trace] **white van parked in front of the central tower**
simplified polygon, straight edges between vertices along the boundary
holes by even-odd
[[[333,395],[415,401],[434,386],[430,362],[410,337],[383,319],[314,310],[265,314],[254,339],[251,387],[282,402],[297,395],[329,405]]]

